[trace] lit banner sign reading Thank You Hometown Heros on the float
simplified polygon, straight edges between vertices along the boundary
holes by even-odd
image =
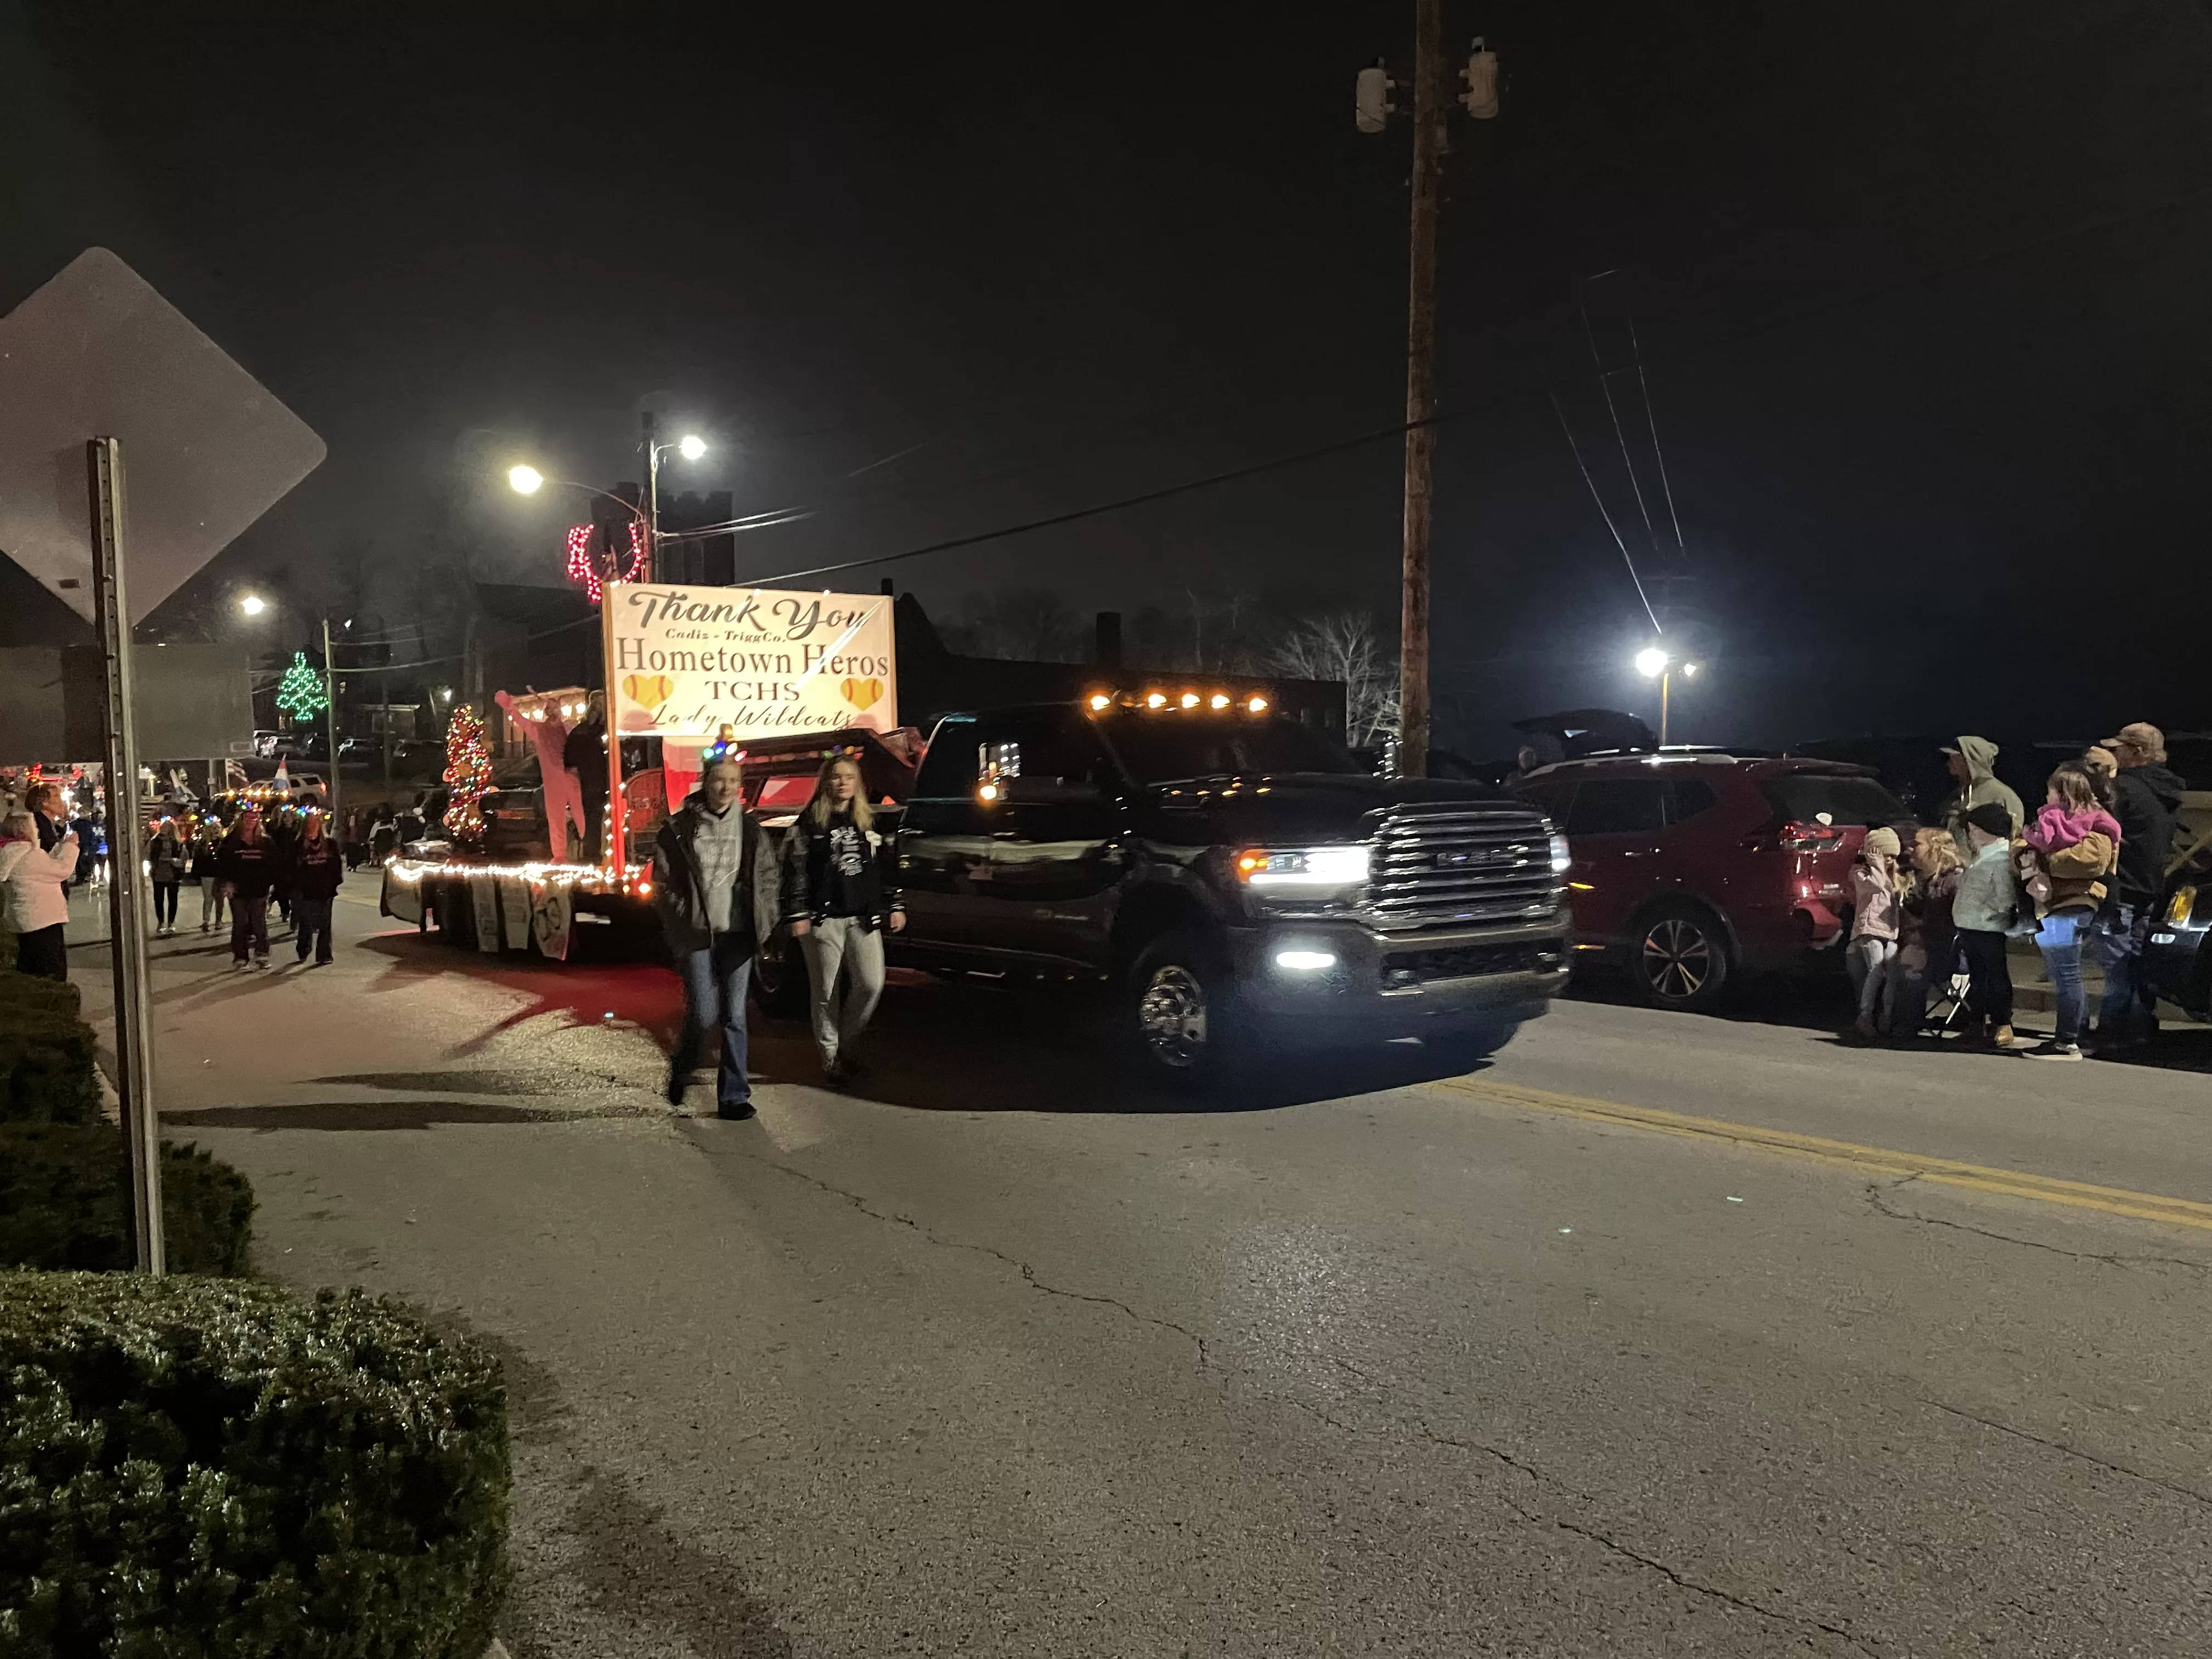
[[[604,615],[617,732],[898,728],[887,595],[608,582]]]

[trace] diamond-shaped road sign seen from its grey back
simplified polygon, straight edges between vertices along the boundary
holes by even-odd
[[[327,453],[106,248],[86,248],[0,319],[0,553],[91,622],[86,438],[122,440],[131,622]]]

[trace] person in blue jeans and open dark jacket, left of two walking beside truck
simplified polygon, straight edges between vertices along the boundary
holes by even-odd
[[[697,792],[661,825],[653,852],[653,902],[684,975],[684,1035],[668,1057],[668,1104],[684,1104],[699,1046],[719,1024],[717,1117],[752,1117],[745,987],[754,951],[776,927],[776,883],[759,876],[761,832],[745,818],[741,787],[734,759],[708,761]]]

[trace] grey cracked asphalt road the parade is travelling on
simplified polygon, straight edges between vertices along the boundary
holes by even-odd
[[[918,982],[721,1124],[666,971],[380,927],[166,940],[164,1104],[504,1352],[518,1659],[2212,1650],[2197,1071],[1577,1000],[1188,1110]]]

